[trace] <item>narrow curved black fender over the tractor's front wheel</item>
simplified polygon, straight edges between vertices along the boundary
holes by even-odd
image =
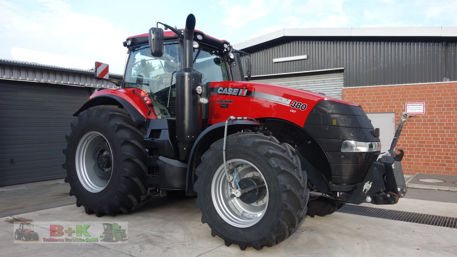
[[[250,129],[260,126],[260,123],[250,120],[230,121],[227,127],[227,135],[235,134],[243,129]],[[198,136],[192,146],[189,157],[189,165],[186,172],[186,195],[197,195],[194,191],[195,169],[199,164],[200,157],[209,149],[214,142],[224,137],[225,122],[216,123],[205,129]]]

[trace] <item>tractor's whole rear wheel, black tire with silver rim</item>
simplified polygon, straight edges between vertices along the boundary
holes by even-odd
[[[149,201],[143,133],[125,109],[96,106],[71,123],[65,182],[87,214],[127,213]]]

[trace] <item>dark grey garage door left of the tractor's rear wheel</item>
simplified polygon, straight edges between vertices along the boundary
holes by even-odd
[[[90,88],[0,80],[0,186],[65,177],[65,134]]]

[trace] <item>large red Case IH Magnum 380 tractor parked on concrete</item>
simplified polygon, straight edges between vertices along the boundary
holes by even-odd
[[[404,196],[393,170],[403,122],[377,161],[379,131],[361,106],[246,81],[249,54],[194,30],[193,15],[185,29],[158,24],[169,31],[123,42],[122,88],[97,91],[74,114],[65,181],[87,214],[127,213],[183,190],[197,195],[213,236],[244,250],[283,241],[305,214]]]

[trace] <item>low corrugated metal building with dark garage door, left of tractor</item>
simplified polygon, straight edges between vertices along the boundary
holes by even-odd
[[[116,85],[91,70],[0,59],[0,186],[65,177],[65,134],[98,87]]]

